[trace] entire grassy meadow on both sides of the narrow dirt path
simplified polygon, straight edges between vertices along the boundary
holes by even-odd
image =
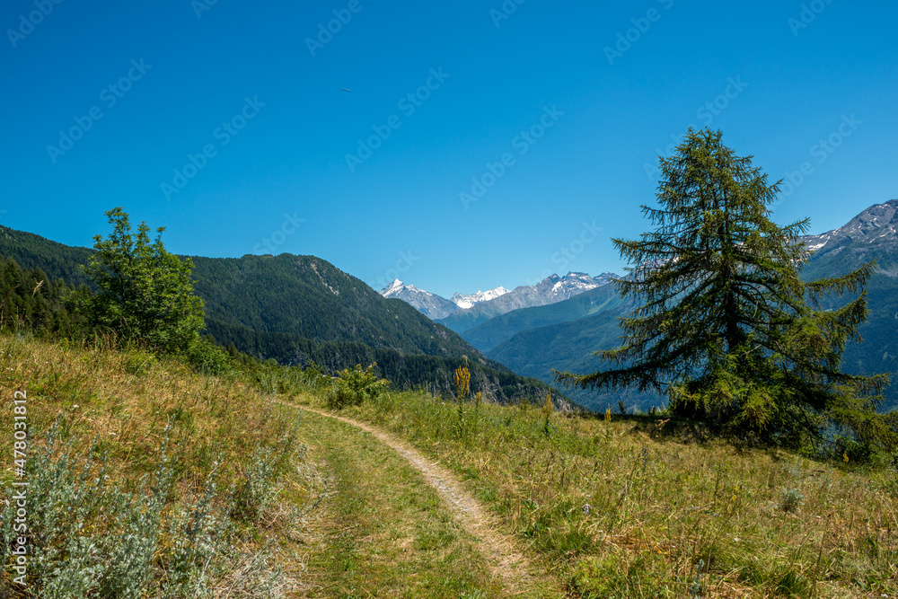
[[[28,580],[4,597],[491,597],[478,540],[400,455],[304,405],[334,379],[0,336],[28,421]],[[569,597],[894,597],[894,465],[823,461],[658,415],[362,393],[341,416],[452,471]],[[277,401],[272,401],[277,400]],[[293,403],[286,407],[278,401]],[[353,405],[355,404],[355,405]],[[0,473],[12,563],[12,452]],[[846,456],[847,457],[847,456]]]

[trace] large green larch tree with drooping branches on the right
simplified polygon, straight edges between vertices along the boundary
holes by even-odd
[[[773,223],[779,183],[768,184],[719,131],[690,129],[660,166],[659,206],[642,207],[654,230],[613,240],[633,265],[615,284],[638,307],[621,319],[621,347],[597,352],[612,367],[556,373],[559,383],[654,390],[674,413],[788,445],[833,426],[864,441],[894,439],[876,416],[888,376],[841,372],[867,317],[873,263],[803,281],[808,219]],[[858,296],[822,309],[844,293]]]

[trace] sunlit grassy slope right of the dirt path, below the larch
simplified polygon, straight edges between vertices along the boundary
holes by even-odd
[[[647,419],[555,414],[547,434],[533,407],[469,405],[460,420],[421,393],[342,413],[451,468],[572,596],[898,593],[894,470],[663,436]]]

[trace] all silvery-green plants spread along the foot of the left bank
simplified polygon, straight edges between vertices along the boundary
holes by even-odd
[[[211,597],[223,578],[241,596],[279,597],[283,572],[273,553],[244,554],[234,549],[236,529],[229,515],[259,519],[277,494],[279,465],[292,453],[295,432],[275,447],[260,447],[251,468],[227,497],[216,504],[218,463],[195,500],[165,511],[172,496],[174,468],[163,434],[161,461],[128,491],[113,485],[106,454],[94,444],[75,450],[75,437],[58,440],[61,419],[46,443],[28,458],[28,545],[30,593],[47,599],[102,597]],[[0,503],[0,565],[8,567],[15,502]],[[163,543],[163,539],[167,542]],[[270,543],[269,543],[270,544]],[[164,545],[164,546],[163,546]],[[0,596],[12,595],[0,578]],[[21,591],[21,589],[18,589]]]

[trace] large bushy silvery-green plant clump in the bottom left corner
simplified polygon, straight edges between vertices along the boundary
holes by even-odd
[[[168,428],[152,489],[146,492],[145,477],[136,493],[126,493],[109,485],[106,454],[97,451],[96,443],[78,453],[74,437],[66,444],[57,442],[59,424],[57,419],[46,444],[35,446],[29,456],[30,582],[48,599],[137,599],[145,591],[160,513],[172,486],[165,454]],[[6,540],[11,538],[11,518],[4,513],[2,521]],[[4,543],[4,565],[7,547]]]

